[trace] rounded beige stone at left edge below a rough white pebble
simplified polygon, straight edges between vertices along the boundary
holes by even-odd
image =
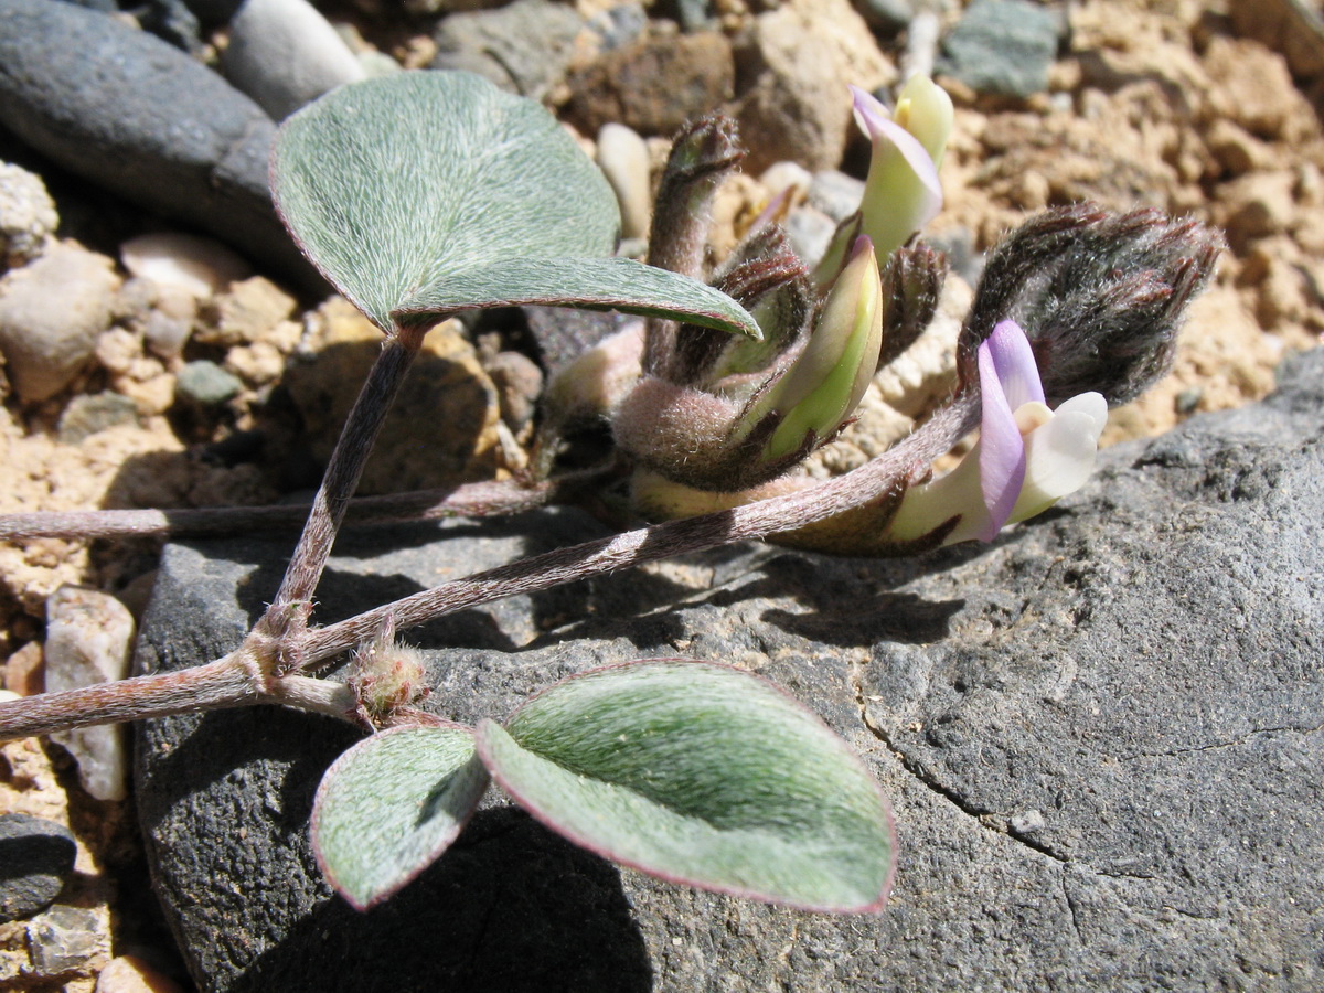
[[[0,279],[0,352],[20,400],[46,400],[69,385],[110,327],[118,289],[111,261],[73,242]]]

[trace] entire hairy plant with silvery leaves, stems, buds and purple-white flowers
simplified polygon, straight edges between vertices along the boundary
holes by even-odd
[[[1209,278],[1218,240],[1194,222],[1088,205],[1034,217],[988,258],[948,400],[851,473],[817,482],[793,471],[929,324],[945,271],[914,236],[941,204],[951,102],[916,78],[892,111],[863,93],[855,109],[873,163],[861,211],[825,257],[796,256],[773,203],[711,273],[708,205],[741,158],[720,115],[675,139],[649,265],[613,254],[616,199],[573,139],[539,105],[477,77],[399,74],[290,118],[273,155],[281,216],[383,346],[289,571],[224,658],[0,703],[0,737],[258,704],[351,722],[365,737],[326,773],[311,830],[327,879],[357,907],[436,859],[495,780],[553,830],[646,873],[821,911],[879,908],[894,863],[886,801],[847,745],[771,683],[704,661],[633,661],[466,727],[445,719],[445,699],[420,706],[424,669],[397,641],[477,604],[745,539],[847,555],[988,542],[1084,483],[1108,405],[1165,371]],[[424,334],[510,305],[643,320],[548,384],[528,478],[440,500],[351,502]],[[561,471],[565,440],[589,422],[610,425],[613,450],[596,469]],[[976,429],[964,461],[933,478],[933,461]],[[500,514],[606,490],[617,512],[654,523],[314,622],[347,514]],[[248,512],[244,527],[287,515]],[[0,522],[0,536],[214,534],[236,520],[225,510],[24,515]],[[319,675],[346,655],[346,681]]]

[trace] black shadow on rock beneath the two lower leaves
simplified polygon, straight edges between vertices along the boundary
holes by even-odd
[[[328,953],[310,956],[318,947]],[[236,993],[651,988],[620,873],[514,809],[477,814],[432,869],[367,914],[339,898],[320,903],[229,986]]]

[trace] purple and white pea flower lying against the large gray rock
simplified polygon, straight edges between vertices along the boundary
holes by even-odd
[[[943,544],[992,542],[1079,490],[1108,418],[1100,393],[1080,393],[1050,410],[1030,343],[1004,320],[978,348],[980,440],[947,475],[906,493],[890,532],[923,538],[957,518]]]

